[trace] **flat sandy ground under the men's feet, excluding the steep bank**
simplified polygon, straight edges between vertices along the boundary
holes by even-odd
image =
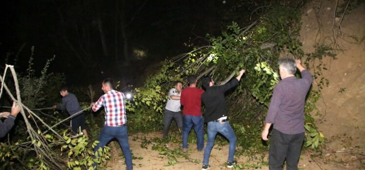
[[[168,159],[165,155],[159,154],[159,151],[152,150],[151,147],[153,144],[147,146],[148,149],[141,148],[140,140],[132,140],[134,136],[146,137],[146,139],[151,139],[153,137],[162,137],[161,133],[154,132],[149,134],[135,134],[129,137],[130,149],[135,157],[142,157],[143,159],[134,159],[134,169],[135,170],[201,170],[202,163],[196,164],[193,162],[189,162],[183,158],[179,159],[179,163],[171,166],[164,166],[168,163]],[[111,150],[111,160],[108,161],[107,170],[125,170],[124,158],[120,156],[122,150],[120,149],[117,142],[111,142],[109,146],[112,148]],[[180,144],[169,143],[170,149],[181,148]],[[329,151],[326,151],[329,152]],[[189,149],[187,151],[189,157],[192,159],[203,160],[203,152],[199,152],[196,150],[196,145],[189,145]],[[268,152],[265,152],[264,160],[267,161]],[[361,170],[363,167],[359,164],[359,158],[361,156],[357,156],[349,153],[326,153],[325,156],[321,157],[311,157],[311,152],[306,150],[302,153],[301,159],[299,161],[299,168],[301,170]],[[335,157],[348,157],[348,161],[336,161]],[[212,149],[209,164],[211,165],[211,170],[230,170],[225,167],[225,161],[228,157],[228,146],[215,146]],[[261,157],[260,154],[257,157]],[[239,164],[244,164],[247,162],[247,156],[235,157]],[[254,161],[251,161],[251,164]],[[260,170],[268,170],[267,166],[262,166],[258,168]]]

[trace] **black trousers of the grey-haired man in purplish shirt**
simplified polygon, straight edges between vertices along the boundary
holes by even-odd
[[[273,129],[270,137],[269,169],[283,170],[286,158],[286,170],[298,170],[304,137],[304,132],[285,134]]]

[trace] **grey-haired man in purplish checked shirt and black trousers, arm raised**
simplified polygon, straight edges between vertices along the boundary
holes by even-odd
[[[302,79],[295,77],[301,72]],[[298,170],[298,162],[304,140],[305,96],[312,84],[312,75],[305,70],[299,60],[283,58],[279,60],[282,80],[275,85],[262,132],[267,141],[269,128],[274,124],[270,137],[269,169],[283,170],[286,158],[287,170]]]

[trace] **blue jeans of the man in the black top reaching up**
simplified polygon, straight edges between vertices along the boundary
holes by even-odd
[[[229,149],[228,149],[228,160],[229,162],[233,161],[234,152],[236,150],[236,135],[233,132],[232,127],[229,125],[229,122],[208,122],[208,141],[206,142],[206,147],[204,150],[203,157],[203,165],[209,164],[209,156],[210,151],[214,145],[214,139],[217,133],[220,132],[229,140]]]

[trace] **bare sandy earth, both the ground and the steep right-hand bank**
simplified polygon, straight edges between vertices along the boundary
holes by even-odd
[[[342,2],[342,1],[340,1]],[[351,37],[361,39],[365,36],[365,6],[352,10],[349,15],[334,18],[336,1],[311,1],[304,7],[302,16],[302,31],[299,38],[305,52],[313,52],[314,44],[325,43],[334,45],[333,25],[340,25],[341,32],[334,47],[338,51],[337,60],[324,58],[327,70],[323,75],[329,80],[328,87],[322,89],[321,99],[317,106],[321,111],[316,116],[317,126],[327,137],[326,146],[321,156],[311,157],[314,152],[304,151],[299,162],[302,170],[361,170],[365,169],[365,41],[356,43]],[[364,5],[364,3],[362,4]],[[317,15],[316,15],[317,14]],[[317,63],[318,64],[318,63]],[[313,63],[315,66],[316,63]],[[313,68],[310,68],[313,71]],[[313,82],[316,86],[317,81]],[[343,90],[341,90],[343,89]],[[341,91],[341,92],[340,92]],[[135,170],[200,170],[201,164],[188,162],[184,159],[180,163],[164,167],[168,162],[158,151],[140,147],[141,142],[133,141],[133,136],[147,138],[162,137],[160,133],[133,134],[130,136],[130,148],[136,157]],[[117,144],[111,144],[112,156],[108,162],[108,170],[124,170],[123,158],[119,156],[121,149]],[[113,147],[114,146],[114,147]],[[116,147],[115,147],[116,146]],[[169,148],[180,148],[178,144],[169,144]],[[196,151],[194,145],[189,146],[188,153],[193,159],[203,160],[203,152]],[[264,153],[267,160],[267,152]],[[211,170],[225,170],[225,161],[228,155],[228,146],[215,146],[210,156]],[[258,155],[260,157],[260,155]],[[243,164],[247,156],[241,156],[238,162]],[[259,168],[260,169],[260,168]],[[263,166],[262,170],[268,170]]]

